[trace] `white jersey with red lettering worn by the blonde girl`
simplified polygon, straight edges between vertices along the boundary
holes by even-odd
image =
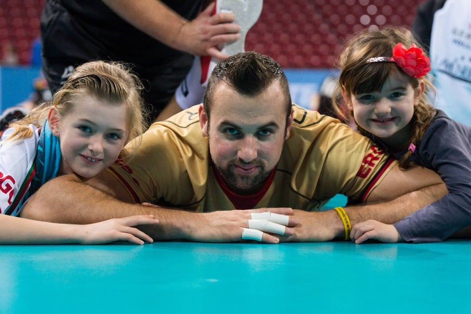
[[[25,195],[34,176],[33,163],[38,148],[39,130],[33,124],[30,127],[34,132],[33,136],[27,139],[4,141],[12,134],[12,128],[2,134],[0,143],[0,213],[2,214],[19,215],[19,208],[12,211],[7,209],[11,204],[17,204]]]

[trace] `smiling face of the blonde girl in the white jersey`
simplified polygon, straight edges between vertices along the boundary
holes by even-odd
[[[57,113],[51,112],[51,129],[62,153],[59,173],[91,178],[120,154],[128,135],[127,106],[88,95],[76,103],[58,123]]]

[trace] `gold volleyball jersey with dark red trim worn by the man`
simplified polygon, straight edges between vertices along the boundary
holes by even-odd
[[[340,121],[293,107],[290,137],[273,182],[255,208],[317,210],[336,194],[365,200],[395,161]],[[195,211],[234,209],[210,166],[198,105],[154,123],[143,135],[137,155],[108,171],[137,203]]]

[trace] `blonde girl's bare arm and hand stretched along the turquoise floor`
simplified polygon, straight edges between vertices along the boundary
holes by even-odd
[[[0,244],[104,244],[114,241],[152,243],[150,236],[133,226],[154,225],[157,222],[152,215],[109,219],[86,225],[0,215]]]

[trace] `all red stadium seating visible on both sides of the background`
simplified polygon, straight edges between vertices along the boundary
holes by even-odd
[[[31,44],[39,36],[44,0],[1,1],[0,43],[15,43],[20,62],[27,64]],[[367,27],[411,25],[421,2],[264,0],[260,19],[247,34],[245,47],[271,55],[285,68],[331,68],[350,34]]]

